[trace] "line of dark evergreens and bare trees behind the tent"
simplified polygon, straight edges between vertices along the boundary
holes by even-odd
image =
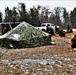
[[[70,13],[63,7],[55,7],[50,10],[47,6],[33,6],[29,11],[24,3],[18,3],[17,7],[5,8],[5,16],[0,12],[0,22],[22,22],[26,21],[33,26],[39,26],[42,22],[51,22],[55,25],[76,24],[76,7]]]

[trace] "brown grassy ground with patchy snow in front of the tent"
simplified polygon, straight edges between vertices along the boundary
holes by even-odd
[[[25,49],[0,48],[0,75],[76,75],[73,33],[52,36],[56,45]]]

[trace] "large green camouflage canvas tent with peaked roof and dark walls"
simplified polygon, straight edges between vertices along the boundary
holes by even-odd
[[[7,48],[26,48],[49,45],[51,35],[36,29],[26,22],[0,36],[0,46]]]

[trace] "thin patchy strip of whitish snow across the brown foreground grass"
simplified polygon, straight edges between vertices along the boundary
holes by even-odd
[[[32,66],[30,66],[30,68],[32,68],[35,64],[38,64],[38,66],[40,67],[40,65],[50,65],[49,68],[51,68],[51,70],[53,70],[53,65],[56,65],[58,68],[62,67],[62,66],[66,66],[69,68],[75,68],[76,67],[76,63],[70,63],[68,61],[74,60],[76,61],[76,58],[67,58],[67,57],[59,57],[59,56],[52,56],[52,58],[50,59],[20,59],[20,60],[1,60],[0,63],[3,64],[17,64],[17,65],[24,65],[21,66],[21,69],[24,68],[28,68],[29,64],[32,64]],[[68,63],[66,63],[68,62]],[[11,66],[12,67],[12,66]],[[40,70],[40,69],[38,69]]]

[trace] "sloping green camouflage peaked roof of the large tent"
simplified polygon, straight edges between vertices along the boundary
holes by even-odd
[[[22,22],[17,27],[7,32],[6,38],[14,40],[30,40],[31,38],[44,37],[48,35],[49,34],[36,29],[29,23]]]

